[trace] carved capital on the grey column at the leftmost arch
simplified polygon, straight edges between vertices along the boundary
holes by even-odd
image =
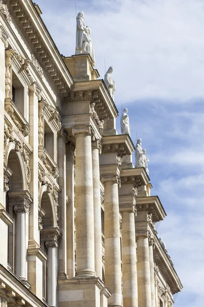
[[[30,205],[33,201],[29,191],[14,191],[8,192],[9,204],[13,205],[13,209],[16,213],[28,213],[30,212]]]

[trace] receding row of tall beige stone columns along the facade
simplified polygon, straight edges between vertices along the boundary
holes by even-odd
[[[108,306],[155,307],[154,259],[147,232],[145,235],[137,236],[136,259],[135,203],[120,206],[121,255],[118,196],[120,178],[116,173],[107,173],[105,176],[103,173],[100,178],[100,142],[91,142],[89,126],[74,127],[72,132],[76,139],[76,276],[96,276],[100,279],[102,277],[101,179],[105,191],[105,278],[106,286],[112,293],[108,299]]]

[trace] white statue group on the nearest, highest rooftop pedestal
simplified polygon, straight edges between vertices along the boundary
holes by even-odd
[[[76,31],[76,50],[75,54],[89,53],[93,64],[95,65],[95,56],[93,44],[90,37],[91,29],[85,25],[84,13],[79,12],[77,15],[77,31]]]

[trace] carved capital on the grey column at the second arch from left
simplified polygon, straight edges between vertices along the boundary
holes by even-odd
[[[58,228],[45,228],[40,231],[40,239],[45,242],[47,248],[57,248],[61,236],[62,234]]]

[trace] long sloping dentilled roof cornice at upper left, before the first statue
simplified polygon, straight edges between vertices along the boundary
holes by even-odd
[[[9,1],[8,7],[18,28],[30,43],[31,54],[34,54],[43,71],[47,72],[46,76],[59,93],[67,96],[73,84],[72,77],[33,3],[30,0],[14,0]],[[33,58],[31,61],[36,69],[36,61],[33,61]],[[41,77],[40,70],[36,71]]]

